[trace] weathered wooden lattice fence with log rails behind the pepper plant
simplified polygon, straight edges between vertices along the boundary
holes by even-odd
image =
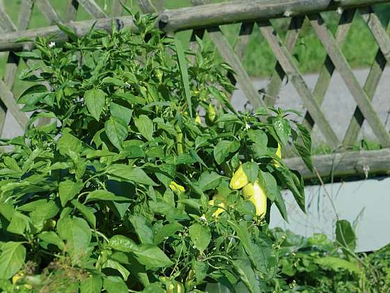
[[[96,27],[107,30],[111,28],[112,20],[119,28],[133,27],[132,17],[122,16],[123,8],[119,0],[110,2],[112,5],[110,15],[107,15],[94,0],[68,0],[63,17],[59,16],[49,0],[21,1],[17,24],[13,23],[6,11],[0,7],[0,51],[8,52],[5,75],[0,80],[0,98],[3,103],[0,107],[0,130],[3,129],[7,111],[10,111],[20,126],[24,127],[27,122],[26,114],[20,112],[15,104],[13,85],[15,84],[17,67],[20,65],[20,58],[15,52],[31,50],[32,44],[31,42],[16,42],[16,40],[26,37],[49,36],[54,33],[56,33],[57,41],[64,40],[65,35],[56,27],[56,22],[68,23],[79,36],[86,33],[95,20],[98,20]],[[304,123],[309,129],[317,125],[327,144],[333,149],[350,149],[357,140],[362,123],[367,121],[383,149],[378,151],[341,151],[334,155],[316,156],[313,158],[313,163],[321,175],[383,173],[390,170],[389,131],[385,128],[371,103],[384,68],[390,61],[388,33],[390,27],[383,27],[372,6],[377,3],[390,2],[389,0],[251,0],[212,4],[210,4],[210,0],[191,0],[191,2],[193,6],[176,10],[164,10],[164,1],[162,0],[139,0],[138,4],[143,13],[158,13],[158,25],[168,33],[191,30],[190,45],[192,48],[196,48],[195,37],[203,38],[207,31],[221,57],[235,70],[236,74],[232,78],[240,85],[240,89],[253,107],[274,105],[283,79],[288,77],[307,109],[304,114]],[[42,12],[42,15],[51,24],[50,27],[29,29],[33,6]],[[91,15],[91,20],[74,21],[80,6]],[[338,27],[334,34],[329,31],[322,19],[321,13],[324,11],[334,11],[339,15]],[[359,14],[363,17],[379,47],[364,87],[359,84],[341,50],[352,20]],[[290,20],[286,37],[283,40],[270,22],[272,19],[282,17],[287,17]],[[294,57],[292,57],[304,22],[311,24],[313,31],[327,52],[327,57],[322,67],[319,68],[318,81],[313,91],[304,81],[302,73],[299,72]],[[220,29],[222,24],[233,23],[241,23],[234,46],[228,42]],[[270,82],[264,94],[259,93],[253,87],[247,71],[242,66],[242,58],[249,36],[254,30],[260,31],[276,57],[274,73],[270,76]],[[27,65],[29,66],[29,63]],[[356,102],[354,112],[345,117],[345,119],[350,120],[350,123],[343,140],[338,139],[331,123],[321,109],[322,101],[335,70],[340,73]],[[291,167],[302,172],[306,178],[315,176],[306,170],[300,159],[289,158],[287,162]]]

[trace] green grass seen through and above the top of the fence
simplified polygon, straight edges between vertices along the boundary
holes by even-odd
[[[17,15],[20,10],[20,0],[3,0],[6,7],[6,11],[10,15],[11,20],[17,23]],[[65,0],[50,0],[54,8],[59,12],[60,16],[65,13],[66,2]],[[96,0],[96,2],[102,8],[106,8],[107,13],[111,8],[111,0]],[[214,0],[214,2],[221,2],[221,0]],[[106,4],[106,5],[105,5]],[[127,5],[132,7],[134,10],[139,10],[137,6],[137,1],[131,0],[127,1]],[[165,7],[169,9],[180,8],[191,6],[189,0],[166,0]],[[390,15],[390,5],[382,4],[375,6],[375,11],[379,15],[382,23],[387,23],[389,21]],[[338,23],[338,15],[334,12],[322,13],[322,16],[325,18],[328,27],[332,32],[336,30]],[[76,20],[87,20],[89,19],[88,13],[83,8],[79,8],[77,13]],[[288,28],[288,19],[284,20],[274,20],[272,21],[276,31],[278,31],[281,38],[284,38],[286,35],[286,30]],[[37,28],[47,26],[48,22],[45,20],[45,17],[40,13],[37,8],[34,8],[33,15],[31,17],[31,22],[29,28]],[[240,24],[232,24],[221,27],[222,31],[226,34],[231,45],[234,44],[237,33],[240,29]],[[183,43],[187,45],[189,43],[189,31],[184,31],[179,33],[180,38]],[[208,40],[210,47],[213,48],[210,39],[207,34],[205,40]],[[373,59],[377,52],[377,44],[371,36],[370,31],[368,30],[366,24],[361,19],[359,15],[354,18],[352,27],[348,36],[343,45],[343,53],[345,57],[350,62],[352,68],[367,67],[373,63]],[[221,59],[219,54],[217,54],[217,59]],[[301,34],[295,46],[293,56],[297,61],[299,70],[302,73],[311,73],[318,71],[322,66],[322,63],[325,60],[326,52],[322,47],[320,40],[315,36],[313,29],[311,28],[309,22],[305,21],[302,28]],[[6,54],[0,58],[0,77],[3,76],[3,70],[6,63]],[[260,31],[257,27],[253,29],[253,33],[249,38],[249,43],[247,50],[244,54],[244,59],[242,60],[244,68],[247,69],[247,72],[251,77],[267,77],[274,70],[276,63],[274,54],[272,50],[267,45],[263,36],[261,36]]]

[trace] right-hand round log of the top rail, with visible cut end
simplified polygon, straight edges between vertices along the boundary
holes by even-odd
[[[246,0],[226,1],[208,5],[164,10],[159,16],[160,27],[181,31],[216,27],[237,22],[258,22],[270,18],[306,15],[320,11],[348,9],[373,5],[387,0]]]

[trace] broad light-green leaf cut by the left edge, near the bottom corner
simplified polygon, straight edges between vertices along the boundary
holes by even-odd
[[[26,248],[21,242],[14,241],[4,242],[0,248],[0,279],[9,279],[22,268]]]

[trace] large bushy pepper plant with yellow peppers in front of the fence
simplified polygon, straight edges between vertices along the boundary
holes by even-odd
[[[310,166],[307,130],[282,110],[236,112],[228,64],[134,17],[134,31],[81,38],[59,24],[67,42],[18,53],[36,65],[20,75],[29,126],[1,140],[3,292],[263,292],[277,278],[270,206],[287,220],[288,188],[304,210],[280,149]],[[229,187],[240,168],[266,213]]]

